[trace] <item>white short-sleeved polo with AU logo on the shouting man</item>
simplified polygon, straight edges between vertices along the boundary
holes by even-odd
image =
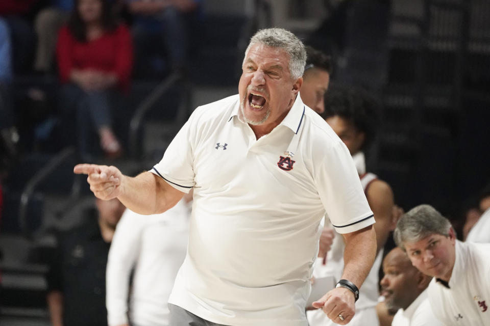
[[[227,325],[307,325],[325,212],[340,233],[374,223],[347,147],[297,96],[256,140],[238,95],[198,107],[152,170],[194,188],[187,256],[169,303]]]

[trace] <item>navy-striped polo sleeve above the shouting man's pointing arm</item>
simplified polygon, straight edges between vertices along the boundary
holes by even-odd
[[[197,108],[168,145],[163,158],[150,171],[183,193],[194,186],[193,143],[195,142]]]

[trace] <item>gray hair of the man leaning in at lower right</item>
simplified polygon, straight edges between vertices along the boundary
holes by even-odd
[[[393,238],[398,247],[405,251],[405,242],[416,242],[431,234],[447,236],[451,222],[434,207],[424,204],[415,206],[398,220]]]

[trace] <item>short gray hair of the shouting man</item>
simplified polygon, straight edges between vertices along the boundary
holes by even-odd
[[[249,53],[250,47],[254,44],[264,44],[269,47],[280,48],[286,51],[289,56],[289,72],[293,80],[303,76],[306,65],[306,49],[301,40],[294,34],[284,29],[273,28],[260,30],[250,39],[249,46],[245,50],[245,57]]]

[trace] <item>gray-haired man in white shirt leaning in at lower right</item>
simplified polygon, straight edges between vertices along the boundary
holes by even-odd
[[[440,321],[490,325],[490,244],[456,240],[451,223],[430,205],[403,215],[394,237],[412,265],[434,277],[428,297]]]

